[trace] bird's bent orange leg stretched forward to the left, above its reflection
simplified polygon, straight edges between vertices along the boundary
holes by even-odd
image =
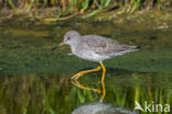
[[[82,77],[84,73],[87,73],[87,72],[93,72],[93,71],[98,71],[98,70],[100,70],[101,68],[100,68],[100,66],[98,65],[98,67],[97,68],[95,68],[95,69],[90,69],[90,70],[86,70],[86,71],[80,71],[80,72],[78,72],[78,73],[76,73],[74,77],[72,77],[71,79],[78,79],[79,77]]]

